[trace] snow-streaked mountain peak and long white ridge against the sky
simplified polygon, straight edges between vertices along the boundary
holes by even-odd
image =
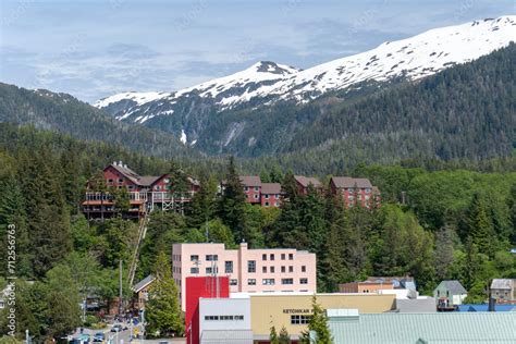
[[[119,120],[160,127],[194,145],[206,118],[283,100],[307,102],[363,82],[419,79],[466,63],[516,40],[516,16],[435,28],[307,70],[258,62],[242,72],[171,93],[123,93],[97,101]],[[233,131],[234,132],[234,127]],[[237,128],[236,128],[237,131]]]

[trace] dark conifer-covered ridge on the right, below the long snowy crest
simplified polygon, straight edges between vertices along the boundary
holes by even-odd
[[[516,45],[457,65],[416,85],[370,95],[319,115],[286,151],[324,150],[370,161],[415,155],[486,159],[515,147]],[[355,156],[355,157],[354,157]]]

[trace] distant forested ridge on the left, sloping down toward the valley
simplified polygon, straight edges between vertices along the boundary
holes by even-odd
[[[121,145],[152,156],[195,155],[171,134],[121,123],[66,94],[0,83],[0,122],[33,125],[84,140]]]

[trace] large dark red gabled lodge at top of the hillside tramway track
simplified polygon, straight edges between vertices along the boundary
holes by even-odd
[[[118,189],[126,188],[130,198],[130,209],[122,216],[140,219],[155,209],[181,211],[183,205],[191,201],[200,188],[199,182],[188,177],[187,192],[174,193],[168,174],[140,176],[122,161],[103,169],[102,177],[106,187],[95,185],[93,180],[86,185],[82,206],[88,219],[112,217],[116,212],[114,194]]]

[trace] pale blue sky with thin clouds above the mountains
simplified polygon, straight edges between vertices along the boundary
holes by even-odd
[[[514,0],[0,3],[0,82],[85,101],[175,90],[260,60],[306,69],[433,27],[516,13]]]

